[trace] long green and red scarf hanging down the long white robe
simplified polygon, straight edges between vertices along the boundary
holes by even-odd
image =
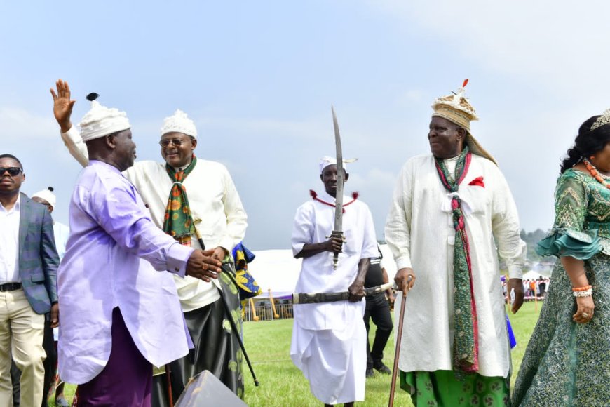
[[[455,174],[452,177],[445,166],[445,161],[435,159],[440,181],[447,191],[458,192],[460,183],[466,178],[471,160],[472,154],[468,151],[468,147],[465,147],[458,157]],[[451,208],[455,229],[453,253],[455,335],[452,345],[454,370],[475,373],[479,369],[477,307],[473,293],[470,246],[459,194],[452,196]]]

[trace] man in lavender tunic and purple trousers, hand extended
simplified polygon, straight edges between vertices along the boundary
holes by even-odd
[[[149,406],[151,365],[191,346],[175,283],[164,271],[210,279],[220,262],[154,225],[121,174],[135,159],[126,114],[92,105],[81,121],[90,163],[70,201],[57,279],[60,377],[79,384],[78,405]]]

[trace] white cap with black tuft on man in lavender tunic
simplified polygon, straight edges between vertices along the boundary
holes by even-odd
[[[84,142],[104,137],[117,131],[127,130],[131,127],[127,114],[118,109],[100,105],[95,100],[97,93],[87,95],[87,100],[91,101],[91,109],[83,119],[81,119],[81,138]]]

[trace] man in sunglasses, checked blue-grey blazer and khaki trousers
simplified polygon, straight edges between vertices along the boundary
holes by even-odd
[[[0,154],[0,406],[11,406],[11,355],[22,372],[21,406],[43,399],[44,314],[59,324],[53,220],[20,187],[21,162]]]

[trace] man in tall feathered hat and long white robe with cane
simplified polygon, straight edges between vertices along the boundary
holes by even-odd
[[[432,154],[402,167],[385,228],[395,281],[409,291],[400,382],[417,405],[504,405],[510,350],[496,253],[517,312],[525,248],[517,209],[494,159],[470,133],[477,117],[463,88],[433,109]]]

